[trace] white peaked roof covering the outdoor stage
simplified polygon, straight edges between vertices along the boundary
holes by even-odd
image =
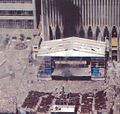
[[[105,42],[79,37],[43,41],[38,56],[104,57]]]

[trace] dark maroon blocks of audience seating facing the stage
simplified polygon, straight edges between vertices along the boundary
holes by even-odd
[[[70,105],[75,106],[76,112],[79,110],[81,113],[92,113],[93,106],[96,111],[106,109],[106,101],[106,92],[104,90],[98,91],[96,94],[88,92],[83,95],[80,93],[60,92],[59,96],[53,95],[53,93],[30,91],[22,105],[22,109],[27,110],[29,108],[34,112],[48,113],[53,105]]]

